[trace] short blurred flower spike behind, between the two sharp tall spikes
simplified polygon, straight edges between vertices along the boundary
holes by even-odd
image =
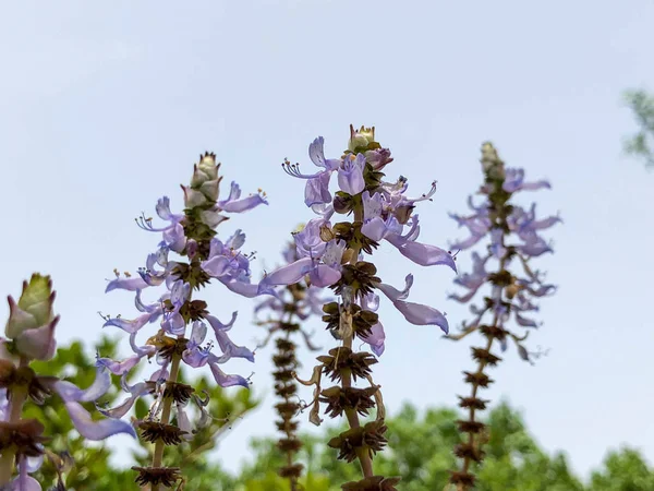
[[[287,246],[283,259],[287,263],[299,259],[294,243]],[[294,455],[302,447],[302,441],[298,439],[296,434],[298,421],[295,420],[295,415],[302,409],[302,406],[299,400],[294,400],[298,394],[298,384],[293,374],[300,363],[295,358],[298,345],[292,338],[300,335],[310,350],[319,349],[313,345],[311,334],[303,328],[301,323],[312,315],[322,315],[323,304],[326,301],[322,298],[322,288],[299,282],[288,285],[279,291],[279,296],[268,297],[255,308],[257,314],[266,311],[269,313],[268,319],[258,322],[268,330],[268,337],[263,345],[265,346],[274,337],[277,348],[272,356],[276,367],[272,378],[275,379],[275,393],[281,399],[275,408],[280,417],[277,428],[282,433],[277,446],[287,455],[287,462],[279,469],[279,475],[289,479],[291,491],[299,489],[298,479],[303,469],[302,464],[294,462]]]

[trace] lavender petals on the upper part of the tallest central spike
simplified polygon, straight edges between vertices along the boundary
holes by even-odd
[[[416,240],[421,227],[419,216],[412,215],[412,211],[417,203],[432,199],[436,192],[435,182],[427,193],[419,197],[405,195],[408,180],[403,177],[396,182],[385,182],[377,177],[376,187],[366,185],[364,178],[366,166],[372,170],[375,169],[370,161],[366,161],[366,155],[368,155],[366,152],[355,153],[354,149],[370,145],[373,137],[372,133],[353,133],[351,142],[355,143],[350,145],[354,146],[350,148],[349,153],[346,153],[346,156],[340,159],[326,160],[323,149],[324,140],[320,136],[310,145],[310,156],[314,164],[317,163],[317,166],[324,167],[326,170],[318,175],[303,175],[299,170],[299,165],[291,165],[288,161],[284,164],[284,170],[293,177],[310,180],[330,176],[334,170],[337,170],[340,190],[349,195],[361,196],[363,219],[360,231],[375,247],[385,239],[415,264],[422,266],[447,265],[456,271],[456,263],[448,251]],[[384,154],[384,158],[388,160],[386,164],[392,160],[389,157],[389,151]],[[383,175],[379,172],[379,176]],[[305,201],[312,208],[316,203],[325,205],[319,209],[319,217],[310,220],[306,227],[293,237],[299,259],[269,273],[262,279],[259,294],[265,292],[265,288],[272,286],[292,285],[305,276],[308,277],[312,285],[318,287],[331,286],[341,279],[341,262],[348,244],[332,232],[329,219],[335,213],[335,206],[328,204],[330,201],[328,182],[322,184],[320,189],[323,197]],[[312,194],[312,197],[316,196],[316,194]],[[437,310],[402,300],[392,300],[392,302],[409,322],[419,325],[438,325],[447,332],[447,321]]]

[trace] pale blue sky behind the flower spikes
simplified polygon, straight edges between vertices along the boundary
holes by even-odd
[[[542,302],[545,324],[531,337],[549,356],[530,367],[509,354],[488,396],[523,409],[538,441],[566,450],[580,471],[621,443],[652,462],[654,175],[620,142],[634,129],[621,92],[654,81],[653,21],[649,1],[4,2],[0,291],[49,273],[61,343],[96,339],[98,310],[133,313],[131,296],[104,295],[105,278],[135,271],[158,241],[133,218],[162,194],[179,209],[179,183],[205,149],[227,182],[269,194],[269,207],[220,228],[246,231],[258,274],[312,216],[303,183],[279,164],[308,165],[318,134],[339,154],[351,122],[377,127],[396,157],[388,173],[409,177],[416,194],[439,181],[421,208],[421,239],[447,244],[460,237],[447,212],[464,211],[480,145],[492,140],[508,165],[550,179],[554,189],[534,196],[565,224],[541,262],[560,290]],[[421,270],[389,248],[378,258],[385,280],[412,272],[415,301],[452,325],[465,319],[445,299],[450,271]],[[468,254],[459,261],[465,267]],[[261,336],[251,301],[219,285],[206,291],[214,312],[241,311],[237,342]],[[453,405],[467,345],[407,325],[387,304],[380,314],[387,350],[375,379],[389,408]],[[258,355],[257,394],[270,385],[268,358]],[[251,436],[272,432],[271,402],[221,444],[228,467]]]

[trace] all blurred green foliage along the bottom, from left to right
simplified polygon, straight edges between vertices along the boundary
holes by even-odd
[[[113,356],[116,342],[104,337],[96,347],[102,356]],[[95,376],[95,361],[86,355],[78,342],[60,347],[57,357],[37,367],[38,371],[65,373],[71,382],[85,387]],[[124,397],[114,379],[113,388],[104,403],[117,404]],[[178,453],[174,462],[180,463],[187,477],[186,491],[287,491],[288,480],[277,476],[277,469],[284,464],[284,456],[278,452],[274,438],[257,439],[252,442],[250,460],[238,471],[229,472],[217,463],[220,434],[229,431],[246,418],[246,411],[256,407],[246,391],[222,391],[211,381],[201,378],[194,382],[210,395],[209,412],[216,418],[193,438],[170,452]],[[92,410],[93,407],[87,407]],[[136,418],[147,411],[141,402],[135,407]],[[229,415],[229,417],[228,417]],[[52,397],[44,406],[29,405],[26,417],[36,417],[46,422],[46,434],[52,438],[49,447],[59,456],[70,455],[63,460],[63,482],[70,491],[113,491],[137,490],[134,472],[125,468],[114,468],[109,463],[111,447],[105,443],[85,444],[74,431],[65,416],[61,400]],[[385,476],[402,476],[400,489],[405,491],[440,491],[446,488],[455,458],[451,448],[459,440],[456,420],[460,415],[448,408],[432,408],[424,412],[405,405],[388,419],[390,450],[380,453],[375,459],[376,471]],[[621,448],[608,453],[604,463],[592,475],[582,479],[568,464],[564,453],[549,455],[543,451],[526,430],[521,415],[508,404],[497,405],[488,415],[489,440],[485,450],[484,466],[477,469],[479,491],[653,491],[654,471],[640,452]],[[234,428],[233,431],[238,431]],[[307,491],[337,491],[339,483],[356,478],[355,468],[337,462],[334,451],[324,442],[339,433],[338,428],[327,428],[326,435],[303,434],[303,448],[299,462],[305,466],[301,480]],[[132,465],[147,465],[150,445],[133,453]],[[170,456],[172,457],[172,455]],[[169,457],[169,458],[170,458]],[[57,462],[58,458],[53,457]],[[171,460],[172,462],[172,460]],[[55,486],[57,468],[46,459],[35,476],[39,482]]]

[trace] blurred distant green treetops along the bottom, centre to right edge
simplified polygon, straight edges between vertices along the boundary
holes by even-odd
[[[390,418],[389,445],[375,458],[375,472],[402,476],[402,491],[440,491],[447,489],[449,472],[456,468],[453,445],[459,442],[456,420],[460,415],[450,409],[428,409],[424,415],[405,405]],[[479,476],[477,491],[652,491],[654,471],[635,451],[610,454],[604,468],[593,474],[584,486],[576,477],[564,454],[549,456],[526,431],[521,416],[508,405],[500,404],[491,411],[487,423],[489,441],[486,459]],[[340,483],[359,478],[355,465],[336,460],[334,452],[325,448],[327,435],[304,435],[304,447],[298,455],[306,466],[301,483],[306,490],[337,491]],[[272,440],[256,440],[252,445],[254,460],[242,469],[235,491],[288,491],[288,482],[275,469],[282,456]]]

